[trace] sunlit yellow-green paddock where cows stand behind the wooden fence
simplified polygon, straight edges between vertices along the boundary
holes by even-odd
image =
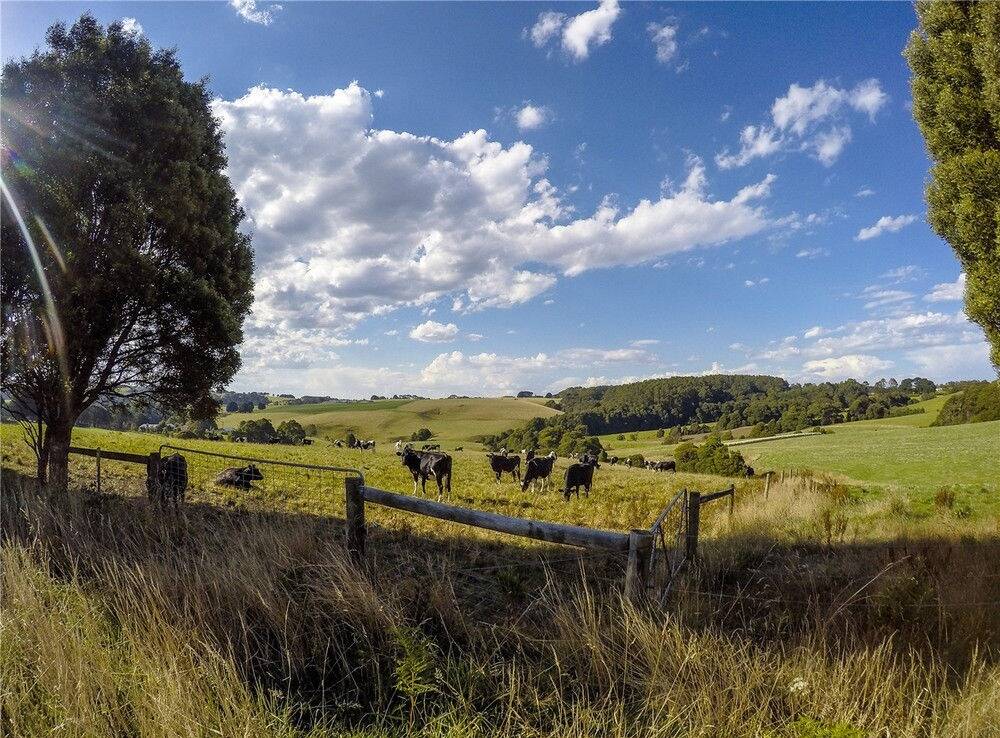
[[[30,472],[32,457],[27,447],[19,441],[20,430],[15,425],[0,426],[3,441],[3,465]],[[388,444],[371,451],[336,448],[326,441],[312,446],[256,445],[224,441],[181,441],[148,433],[122,433],[92,428],[79,428],[73,441],[80,446],[104,450],[149,453],[161,444],[175,444],[183,448],[200,449],[215,454],[232,454],[255,459],[275,459],[305,464],[346,466],[361,468],[369,484],[382,489],[411,492],[413,481]],[[250,494],[216,487],[214,476],[227,466],[242,465],[233,459],[216,459],[198,454],[188,454],[192,500],[236,504],[253,501],[266,507],[285,508],[297,512],[343,514],[343,485],[340,475],[292,472],[280,467],[263,466],[265,482]],[[591,499],[574,498],[563,501],[555,489],[561,487],[562,477],[569,459],[556,462],[554,477],[545,494],[521,492],[509,476],[497,485],[490,471],[485,454],[467,450],[453,453],[453,501],[460,505],[491,510],[505,515],[538,518],[555,522],[589,525],[598,528],[628,530],[648,527],[657,513],[674,493],[687,487],[703,492],[727,487],[732,480],[700,474],[659,474],[645,469],[626,469],[602,465],[597,471]],[[72,456],[71,474],[80,485],[94,481],[94,461]],[[108,489],[125,490],[143,494],[145,469],[136,464],[103,462],[102,478]],[[758,480],[737,480],[740,490],[761,488]],[[433,486],[433,483],[429,487]],[[373,508],[372,519],[380,524],[405,524],[407,527],[435,535],[444,533],[468,535],[470,529],[442,524],[428,518],[406,513]],[[492,534],[490,534],[492,535]],[[504,537],[510,541],[509,537]]]

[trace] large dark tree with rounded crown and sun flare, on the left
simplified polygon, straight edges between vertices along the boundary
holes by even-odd
[[[206,84],[84,15],[2,79],[2,380],[42,481],[101,398],[193,416],[239,368],[253,253]]]

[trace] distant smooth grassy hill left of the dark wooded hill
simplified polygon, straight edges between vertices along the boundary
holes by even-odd
[[[435,440],[470,441],[485,433],[506,430],[531,418],[558,414],[532,400],[509,397],[455,400],[378,400],[361,403],[279,405],[251,414],[230,413],[219,422],[234,427],[250,418],[269,418],[275,426],[294,419],[317,426],[324,438],[343,438],[348,431],[378,441],[409,437],[418,428],[430,428]]]

